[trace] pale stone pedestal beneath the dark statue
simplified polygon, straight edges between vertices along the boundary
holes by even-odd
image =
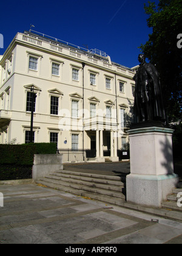
[[[130,174],[126,177],[127,202],[161,207],[178,183],[174,174],[172,133],[163,127],[131,129]]]

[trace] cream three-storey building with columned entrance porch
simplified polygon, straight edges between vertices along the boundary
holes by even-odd
[[[32,31],[16,34],[0,58],[0,143],[29,143],[33,106],[34,142],[118,160],[132,121],[133,69]]]

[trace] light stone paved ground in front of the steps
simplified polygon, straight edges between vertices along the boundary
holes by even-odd
[[[62,244],[61,252],[79,248],[87,255],[98,244],[118,252],[119,244],[182,243],[182,222],[33,183],[0,185],[0,192],[0,244]]]

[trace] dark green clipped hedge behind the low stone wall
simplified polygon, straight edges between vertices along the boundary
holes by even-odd
[[[56,154],[55,143],[0,144],[0,180],[32,178],[35,154]]]

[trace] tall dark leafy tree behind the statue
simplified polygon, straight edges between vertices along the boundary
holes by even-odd
[[[182,120],[182,2],[160,0],[144,5],[147,26],[152,27],[149,41],[140,49],[160,73],[164,104],[169,122]],[[181,35],[182,37],[182,35]]]

